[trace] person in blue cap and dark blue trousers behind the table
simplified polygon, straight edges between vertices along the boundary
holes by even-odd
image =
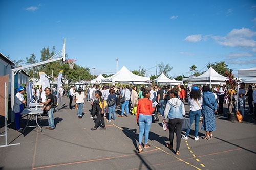
[[[21,115],[20,113],[22,113],[23,111],[23,104],[26,103],[26,101],[24,100],[24,96],[23,96],[23,93],[25,91],[25,88],[20,86],[18,89],[17,89],[17,94],[15,95],[15,98],[14,98],[14,106],[13,106],[13,111],[15,113],[15,129],[17,132],[22,132],[23,133],[23,129],[20,128],[20,118],[21,118]]]

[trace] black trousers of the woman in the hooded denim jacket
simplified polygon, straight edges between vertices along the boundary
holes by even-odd
[[[182,128],[182,119],[181,118],[174,118],[169,119],[169,140],[170,145],[174,145],[174,131],[176,129],[176,151],[180,150],[180,142],[181,142],[181,128]]]

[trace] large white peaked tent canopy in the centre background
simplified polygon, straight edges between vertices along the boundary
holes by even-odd
[[[145,82],[150,81],[149,77],[143,77],[133,74],[125,66],[123,66],[116,74],[102,79],[104,82]]]

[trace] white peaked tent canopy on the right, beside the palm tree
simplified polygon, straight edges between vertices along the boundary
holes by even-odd
[[[205,71],[202,75],[188,78],[187,81],[190,82],[225,82],[227,78],[225,76],[222,76],[218,74],[213,68],[209,68],[207,71]]]

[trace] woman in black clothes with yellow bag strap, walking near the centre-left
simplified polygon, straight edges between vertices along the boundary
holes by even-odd
[[[100,121],[101,121],[101,124],[102,124],[102,128],[100,128],[100,129],[106,129],[105,121],[104,121],[104,117],[103,117],[104,103],[103,103],[103,99],[101,98],[102,93],[99,90],[97,90],[97,91],[95,91],[95,96],[97,98],[97,101],[96,101],[97,119],[96,119],[94,128],[91,128],[92,131],[94,131],[98,128]]]

